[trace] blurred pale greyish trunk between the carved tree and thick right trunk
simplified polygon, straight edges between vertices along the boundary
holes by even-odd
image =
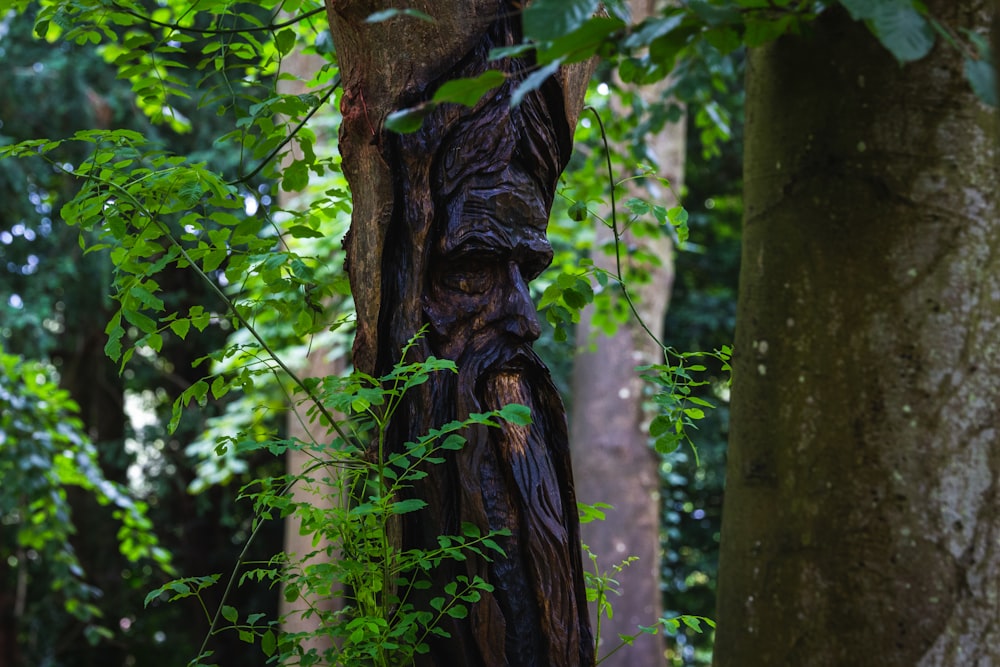
[[[655,0],[633,0],[632,20],[639,23],[655,11]],[[663,103],[668,82],[647,86],[640,91],[651,105]],[[618,105],[620,107],[620,105]],[[619,109],[621,113],[629,113]],[[658,175],[667,178],[675,192],[682,187],[684,172],[684,123],[667,125],[657,135],[648,137],[647,159],[652,160]],[[628,152],[628,147],[619,147]],[[659,183],[631,180],[629,196],[651,199],[657,204],[675,206],[673,193]],[[610,240],[611,232],[598,223],[595,247]],[[666,235],[644,240],[661,260],[659,266],[644,266],[650,281],[630,285],[637,298],[643,320],[662,337],[673,283],[673,244]],[[623,239],[628,246],[631,241]],[[595,253],[597,266],[614,270],[614,259]],[[580,499],[588,504],[604,502],[613,506],[605,521],[595,521],[582,528],[583,542],[597,555],[602,570],[629,556],[638,560],[614,575],[621,596],[611,595],[614,615],[600,623],[599,655],[614,649],[619,635],[635,635],[639,625],[653,625],[663,613],[660,548],[660,477],[659,459],[649,446],[645,427],[648,415],[643,410],[645,382],[635,368],[660,363],[663,352],[656,341],[630,319],[613,336],[595,331],[592,310],[587,309],[577,327],[581,351],[573,364],[573,443],[574,470]],[[596,622],[596,609],[591,609]],[[641,635],[635,643],[601,662],[602,667],[666,664],[663,641],[659,636]]]

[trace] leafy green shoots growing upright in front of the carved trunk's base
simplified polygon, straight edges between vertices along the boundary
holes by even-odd
[[[404,551],[393,540],[396,517],[426,511],[426,503],[407,490],[427,475],[428,466],[444,463],[450,452],[464,446],[465,429],[497,427],[504,421],[530,422],[526,407],[508,405],[449,422],[390,451],[389,425],[404,396],[440,372],[455,372],[454,364],[428,358],[401,362],[379,378],[354,372],[318,379],[310,388],[328,411],[317,406],[310,418],[326,428],[331,441],[287,438],[252,445],[275,454],[302,450],[314,461],[302,474],[260,479],[244,487],[243,497],[255,507],[255,532],[264,522],[295,515],[319,546],[308,554],[279,553],[256,567],[240,562],[215,610],[207,606],[203,592],[222,581],[220,575],[178,579],[152,591],[147,605],[188,597],[199,600],[209,630],[199,655],[189,664],[209,664],[209,640],[222,631],[235,631],[248,643],[259,640],[263,653],[282,664],[407,664],[428,650],[430,637],[448,636],[444,619],[465,618],[470,605],[492,590],[479,577],[458,575],[441,591],[426,594],[430,573],[443,562],[489,561],[502,554],[497,538],[506,535],[505,531],[484,533],[477,526],[463,524],[458,534],[438,536],[437,548],[429,550]],[[342,415],[336,424],[325,421],[331,412]],[[332,502],[295,500],[291,495],[295,487]],[[265,581],[281,583],[290,602],[333,595],[345,605],[332,612],[309,608],[306,616],[320,616],[319,629],[293,633],[281,629],[281,619],[266,620],[260,612],[242,617],[226,602],[234,587]],[[334,639],[331,648],[322,655],[308,648],[307,640],[314,636]]]

